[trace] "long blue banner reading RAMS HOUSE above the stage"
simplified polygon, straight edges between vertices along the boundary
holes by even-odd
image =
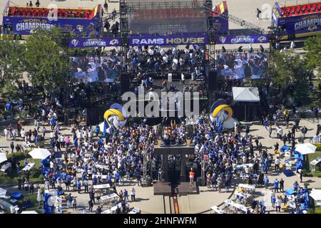
[[[208,43],[205,35],[185,36],[130,36],[129,46],[176,46],[176,45],[201,45]]]

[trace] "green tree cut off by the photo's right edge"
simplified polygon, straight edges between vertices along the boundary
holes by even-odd
[[[303,47],[307,53],[305,53],[305,61],[307,67],[315,70],[317,69],[320,73],[321,69],[321,33],[317,36],[312,36],[305,41],[305,46]]]

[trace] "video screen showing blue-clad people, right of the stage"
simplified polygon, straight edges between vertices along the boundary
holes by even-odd
[[[268,73],[267,53],[220,53],[217,56],[218,76],[226,79],[266,78]]]

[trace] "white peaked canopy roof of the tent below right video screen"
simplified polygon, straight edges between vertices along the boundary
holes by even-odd
[[[233,100],[238,102],[260,102],[257,87],[233,87]]]

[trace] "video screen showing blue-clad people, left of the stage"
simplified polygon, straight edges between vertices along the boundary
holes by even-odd
[[[71,80],[79,83],[113,83],[121,73],[121,57],[71,57]]]

